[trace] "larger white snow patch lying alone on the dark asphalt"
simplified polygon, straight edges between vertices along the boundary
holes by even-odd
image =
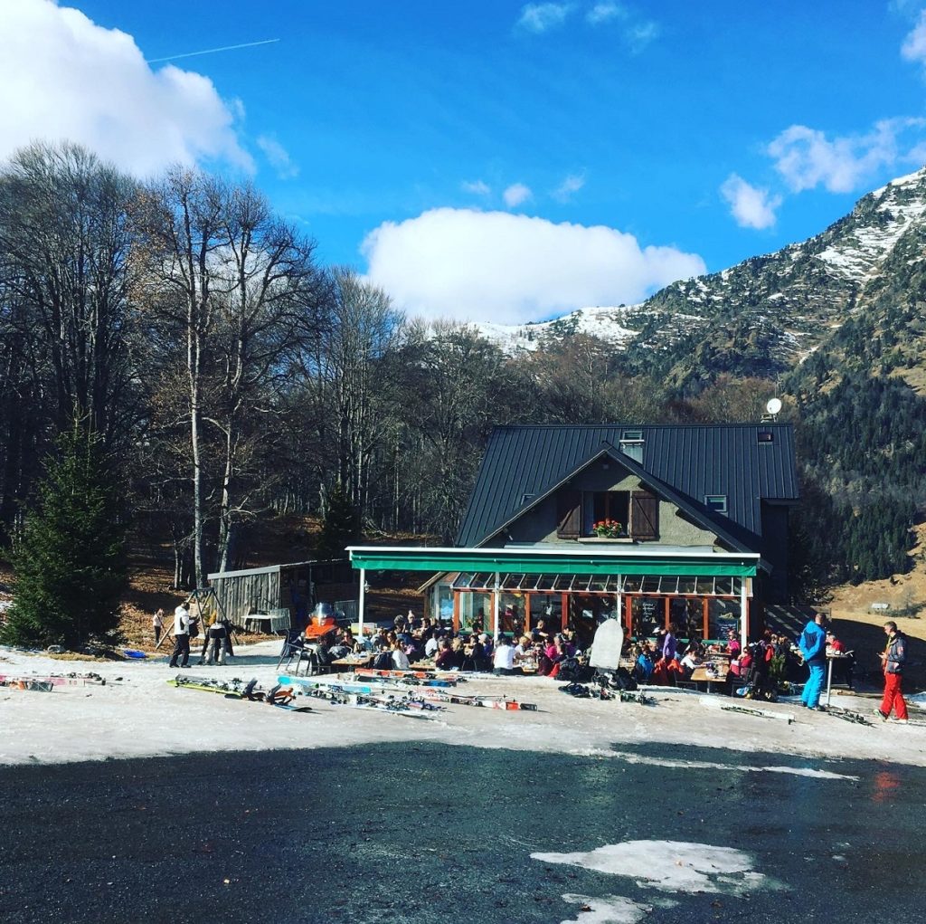
[[[541,863],[565,864],[624,876],[660,892],[742,895],[781,888],[753,869],[749,854],[732,847],[683,841],[625,841],[575,854],[531,854]]]

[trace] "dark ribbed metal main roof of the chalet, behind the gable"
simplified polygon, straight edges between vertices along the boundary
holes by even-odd
[[[671,487],[721,530],[760,536],[762,501],[798,498],[791,424],[500,426],[489,437],[457,545],[491,538],[604,446],[621,458],[625,431],[644,439],[643,462],[628,468],[653,476],[657,491],[659,482]],[[726,516],[707,509],[710,495],[726,496]]]

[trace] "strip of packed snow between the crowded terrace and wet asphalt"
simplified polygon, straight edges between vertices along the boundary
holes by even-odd
[[[276,683],[280,643],[238,646],[231,665],[192,665],[184,675],[216,679],[257,678]],[[198,653],[198,652],[197,652]],[[810,773],[820,778],[852,775],[842,758],[891,760],[926,766],[926,728],[911,724],[859,726],[832,715],[809,714],[793,703],[763,703],[765,712],[797,714],[795,722],[743,715],[720,708],[706,710],[705,696],[683,690],[655,690],[655,705],[574,699],[545,677],[480,677],[461,682],[465,693],[506,695],[538,706],[536,712],[449,708],[432,720],[365,713],[309,697],[312,708],[300,715],[256,702],[227,700],[214,693],[177,689],[167,681],[180,673],[166,657],[141,661],[62,661],[42,654],[0,648],[0,675],[14,677],[93,671],[105,686],[61,686],[52,692],[0,687],[0,764],[60,763],[143,757],[199,751],[270,750],[340,747],[377,741],[427,740],[485,748],[587,754],[593,760],[628,759],[635,745],[678,745],[680,773],[688,766],[685,747],[714,747],[743,753],[739,761],[724,754],[722,766],[761,764],[765,772]],[[711,697],[718,702],[720,697]],[[832,697],[833,703],[872,715],[877,701]],[[912,715],[922,715],[911,698]],[[740,704],[745,704],[739,701]],[[615,755],[614,752],[619,752]],[[755,753],[797,755],[761,762]],[[694,756],[694,755],[693,755]],[[699,754],[703,761],[704,754]],[[639,759],[634,757],[634,759]],[[830,763],[830,761],[835,763]],[[785,769],[779,770],[778,767]],[[761,772],[758,770],[758,772]]]

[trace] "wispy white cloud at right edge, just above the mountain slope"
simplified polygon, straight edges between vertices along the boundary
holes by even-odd
[[[886,119],[868,134],[831,141],[817,129],[792,125],[771,142],[768,153],[795,193],[819,185],[831,193],[848,193],[884,167],[915,163],[924,126],[923,119]]]

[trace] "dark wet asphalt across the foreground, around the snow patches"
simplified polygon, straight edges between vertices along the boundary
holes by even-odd
[[[926,770],[636,751],[858,780],[428,744],[6,767],[0,921],[581,921],[569,893],[677,903],[652,924],[926,918]],[[636,840],[745,851],[782,889],[667,895],[531,858]]]

